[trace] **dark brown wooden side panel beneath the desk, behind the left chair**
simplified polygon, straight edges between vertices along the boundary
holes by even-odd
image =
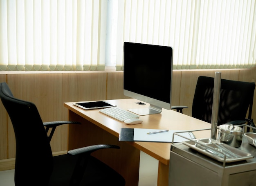
[[[98,150],[92,155],[120,173],[126,179],[126,186],[138,185],[140,150],[132,144],[118,141],[117,137],[72,111],[69,111],[69,120],[79,121],[82,124],[69,125],[68,150],[95,144],[118,145],[121,149]]]

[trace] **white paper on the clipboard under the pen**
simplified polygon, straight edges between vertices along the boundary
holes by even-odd
[[[171,143],[173,140],[173,132],[182,132],[179,133],[180,135],[187,137],[191,139],[191,135],[189,132],[186,132],[185,130],[169,130],[168,132],[161,132],[156,134],[147,134],[148,132],[155,132],[159,131],[159,129],[144,129],[144,128],[135,128],[134,129],[134,141],[153,141],[153,142],[166,142]],[[187,139],[177,136],[174,136],[173,142],[182,142],[186,141]]]

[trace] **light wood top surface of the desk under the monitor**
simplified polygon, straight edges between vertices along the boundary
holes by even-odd
[[[130,108],[147,108],[149,104],[138,105],[135,102],[139,102],[136,99],[118,99],[118,100],[106,100],[109,103],[117,105],[118,108],[128,110]],[[181,114],[174,110],[163,109],[160,114],[151,114],[146,116],[140,116],[143,122],[136,125],[127,125],[124,122],[120,122],[112,117],[108,117],[105,114],[99,112],[99,110],[83,110],[73,105],[73,102],[64,103],[64,106],[75,112],[79,116],[94,123],[100,128],[110,132],[112,135],[119,137],[121,128],[148,128],[148,129],[169,129],[169,130],[199,130],[211,128],[211,124],[195,119],[193,117]],[[195,136],[200,138],[209,138],[211,131],[194,132]],[[171,143],[154,143],[154,142],[127,142],[135,148],[142,150],[148,155],[161,161],[163,164],[168,165],[170,159]]]

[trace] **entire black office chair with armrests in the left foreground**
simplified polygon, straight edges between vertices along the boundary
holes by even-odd
[[[115,170],[90,154],[113,145],[94,145],[52,156],[46,130],[69,121],[43,123],[36,106],[13,97],[7,83],[0,83],[0,98],[11,119],[16,137],[16,186],[124,186]],[[46,130],[45,130],[46,127]]]

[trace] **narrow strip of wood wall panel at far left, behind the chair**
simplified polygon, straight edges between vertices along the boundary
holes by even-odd
[[[6,75],[0,74],[0,82],[6,81]],[[0,101],[0,159],[7,159],[8,157],[8,125],[7,112]]]

